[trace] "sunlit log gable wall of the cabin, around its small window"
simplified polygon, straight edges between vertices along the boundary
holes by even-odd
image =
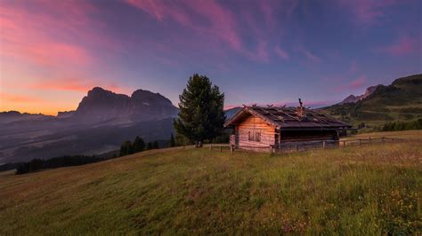
[[[248,132],[260,132],[261,141],[249,141]],[[275,144],[275,128],[259,117],[249,115],[236,127],[236,136],[239,146],[270,146]]]

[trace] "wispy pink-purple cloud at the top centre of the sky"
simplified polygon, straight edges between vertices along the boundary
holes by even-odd
[[[223,56],[227,53],[225,47],[229,47],[247,59],[258,62],[271,60],[270,49],[274,45],[268,39],[282,34],[280,16],[289,18],[297,6],[297,1],[264,0],[240,4],[241,7],[233,10],[215,0],[179,0],[173,3],[153,0],[124,1],[162,24],[175,22],[194,32],[183,40],[183,45],[192,47],[201,42],[206,43],[207,49],[224,54]],[[258,25],[257,22],[263,20],[265,24]],[[201,38],[191,39],[193,37]],[[203,45],[199,47],[204,48]],[[168,53],[174,53],[174,49]],[[286,59],[285,51],[277,54]]]

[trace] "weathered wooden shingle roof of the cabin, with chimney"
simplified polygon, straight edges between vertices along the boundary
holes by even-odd
[[[300,115],[299,109],[302,109]],[[260,117],[268,124],[282,130],[348,130],[351,124],[338,121],[327,114],[304,107],[244,106],[224,123],[225,128],[236,126],[249,114]]]

